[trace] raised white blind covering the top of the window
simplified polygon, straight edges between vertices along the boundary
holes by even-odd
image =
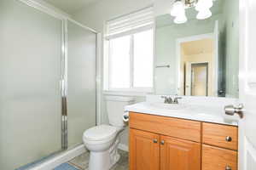
[[[107,22],[106,39],[122,37],[152,28],[154,25],[153,7],[126,14]]]

